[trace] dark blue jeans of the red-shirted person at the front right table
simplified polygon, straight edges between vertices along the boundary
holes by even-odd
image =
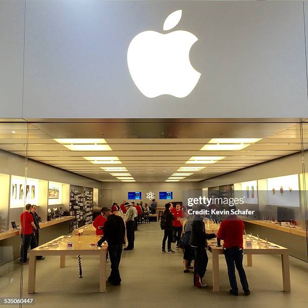
[[[238,292],[237,278],[235,275],[235,268],[237,268],[242,283],[243,290],[248,290],[248,282],[243,267],[243,249],[239,247],[224,248],[223,249],[225,262],[228,268],[228,276],[230,286],[233,291]]]

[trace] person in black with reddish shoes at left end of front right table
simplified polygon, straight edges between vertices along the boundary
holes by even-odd
[[[203,209],[203,207],[199,206],[198,210],[201,209]],[[195,250],[194,285],[198,288],[206,286],[206,283],[202,282],[202,278],[205,275],[208,262],[208,257],[206,254],[206,240],[213,239],[215,237],[216,235],[213,233],[205,233],[203,216],[194,215],[191,229],[190,246]]]

